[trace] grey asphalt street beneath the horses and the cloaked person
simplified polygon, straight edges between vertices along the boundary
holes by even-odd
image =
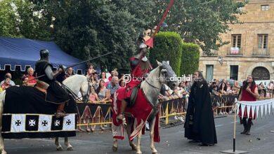
[[[159,153],[220,153],[233,148],[233,116],[215,118],[218,144],[204,147],[198,144],[190,144],[183,137],[183,125],[175,127],[161,128],[161,141],[155,143]],[[236,150],[249,151],[249,153],[273,154],[274,153],[274,116],[259,118],[254,121],[252,135],[240,134],[243,128],[239,122],[236,125]],[[5,140],[5,148],[12,154],[85,154],[85,153],[134,153],[129,147],[128,141],[119,141],[117,152],[112,152],[112,134],[110,130],[104,132],[79,132],[77,137],[70,138],[70,143],[74,151],[66,151],[62,141],[64,151],[56,151],[53,139],[21,139]],[[150,137],[148,132],[143,135],[141,149],[143,153],[151,153]]]

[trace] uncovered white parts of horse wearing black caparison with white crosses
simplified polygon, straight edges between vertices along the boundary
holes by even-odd
[[[86,96],[89,91],[89,83],[88,79],[86,76],[82,75],[74,75],[69,78],[66,78],[63,81],[63,84],[66,85],[74,94],[78,94],[81,92],[82,96]],[[0,130],[2,128],[2,113],[4,111],[4,103],[5,103],[5,96],[6,96],[6,91],[4,90],[3,92],[0,93]],[[58,137],[56,137],[55,144],[57,146],[57,150],[61,151],[63,150],[62,146],[59,144]],[[68,151],[72,151],[72,145],[69,143],[68,138],[65,137],[65,146],[67,146]],[[0,151],[1,154],[6,154],[6,151],[4,150],[4,139],[0,134]]]

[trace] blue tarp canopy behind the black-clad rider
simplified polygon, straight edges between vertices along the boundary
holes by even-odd
[[[48,49],[49,62],[56,68],[60,64],[70,66],[81,62],[81,60],[63,52],[54,42],[0,37],[0,69],[4,70],[6,65],[11,66],[11,71],[15,70],[15,66],[20,66],[21,71],[25,71],[26,66],[34,68],[40,58],[39,51],[41,49]],[[77,71],[84,73],[85,64],[74,66],[73,69],[75,73]]]

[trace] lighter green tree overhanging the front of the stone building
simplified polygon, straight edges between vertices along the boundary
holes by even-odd
[[[163,12],[169,1],[157,1]],[[223,44],[219,36],[229,30],[229,24],[239,22],[237,15],[245,2],[235,0],[176,0],[167,17],[169,31],[177,31],[185,42],[197,43],[204,53],[218,50]]]

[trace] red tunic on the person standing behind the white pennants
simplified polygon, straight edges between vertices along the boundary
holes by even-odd
[[[257,87],[257,85],[254,85],[253,87],[251,87],[251,91],[254,93],[255,92],[255,88]],[[250,94],[249,92],[247,92],[247,90],[242,90],[242,99],[240,101],[256,101],[256,97],[254,97],[252,94]],[[251,106],[250,106],[251,107]],[[239,107],[239,113],[238,116],[242,118],[242,110],[241,110],[241,106]],[[244,118],[247,118],[247,106],[245,106],[244,109]],[[250,110],[249,112],[249,118],[252,119],[252,110]],[[256,113],[254,113],[254,117],[253,119],[256,118]]]

